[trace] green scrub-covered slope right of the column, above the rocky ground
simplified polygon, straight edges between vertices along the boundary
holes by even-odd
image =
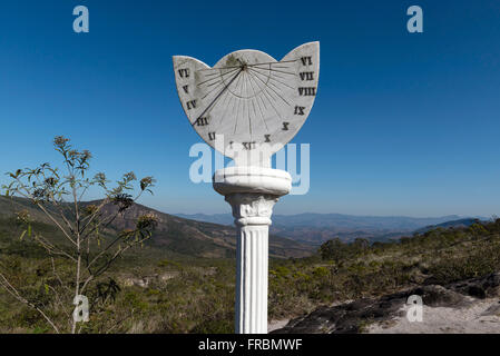
[[[448,284],[500,270],[500,219],[437,228],[388,243],[323,244],[316,256],[273,261],[269,314],[284,318],[317,305],[380,296],[432,280]]]

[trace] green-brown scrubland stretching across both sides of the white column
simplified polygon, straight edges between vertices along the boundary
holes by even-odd
[[[13,220],[0,221],[14,227]],[[447,284],[480,277],[500,269],[500,220],[478,228],[438,229],[400,241],[342,243],[343,255],[323,259],[272,259],[269,264],[269,319],[296,317],[318,305],[374,297],[422,284],[428,278]],[[38,224],[33,230],[43,228]],[[47,226],[45,229],[49,229]],[[49,304],[43,285],[57,285],[51,260],[36,243],[8,239],[0,229],[2,268],[29,296],[47,303],[56,319],[58,305]],[[24,246],[21,253],[17,246]],[[38,246],[37,246],[38,248]],[[43,250],[41,250],[43,251]],[[70,283],[71,264],[58,259],[61,278]],[[165,257],[151,247],[129,251],[109,269],[100,287],[90,322],[81,333],[232,333],[234,328],[235,260]],[[50,295],[49,295],[50,296]],[[60,320],[57,319],[59,323]],[[61,319],[62,320],[62,319]],[[0,332],[46,333],[47,323],[36,312],[0,293]]]

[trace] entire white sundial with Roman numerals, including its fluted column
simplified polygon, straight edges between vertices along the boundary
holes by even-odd
[[[320,42],[302,44],[280,61],[261,51],[239,50],[213,68],[175,56],[174,71],[190,125],[235,161],[213,176],[213,187],[231,204],[237,228],[235,332],[267,333],[268,226],[273,206],[292,189],[292,176],[271,168],[271,156],[298,132],[311,112]]]

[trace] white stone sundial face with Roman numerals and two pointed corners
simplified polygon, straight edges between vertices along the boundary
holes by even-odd
[[[239,50],[214,67],[174,57],[180,102],[196,132],[222,154],[283,148],[300,130],[317,93],[320,42],[302,44],[282,60]],[[224,139],[223,146],[216,140]]]

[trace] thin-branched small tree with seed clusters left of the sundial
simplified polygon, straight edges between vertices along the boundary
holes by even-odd
[[[139,216],[135,228],[121,231],[114,228],[114,221],[144,192],[151,192],[150,188],[155,180],[153,177],[140,179],[140,190],[134,197],[133,182],[137,180],[134,172],[124,175],[122,179],[110,188],[102,172],[89,178],[91,159],[89,151],[75,150],[69,139],[60,136],[53,139],[53,146],[63,158],[62,169],[52,168],[49,164],[42,164],[35,169],[18,169],[8,174],[12,180],[2,188],[8,197],[29,199],[62,234],[63,238],[43,236],[32,229],[28,211],[17,214],[18,220],[24,226],[21,239],[24,236],[32,238],[46,250],[51,260],[53,280],[57,280],[57,285],[46,284],[45,288],[47,294],[53,297],[53,304],[65,313],[68,323],[58,325],[61,323],[56,322],[43,309],[45,305],[21,295],[20,288],[14,286],[9,280],[8,274],[2,270],[0,270],[0,286],[17,300],[37,310],[56,333],[68,330],[75,334],[81,329],[77,330],[77,318],[71,313],[77,296],[86,294],[92,284],[96,285],[100,298],[102,290],[108,294],[116,293],[118,286],[112,279],[104,286],[98,278],[125,251],[141,246],[151,237],[157,224],[154,215]],[[82,201],[85,194],[92,187],[100,188],[104,198],[94,204]],[[61,258],[72,266],[70,283],[58,274],[56,259]]]

